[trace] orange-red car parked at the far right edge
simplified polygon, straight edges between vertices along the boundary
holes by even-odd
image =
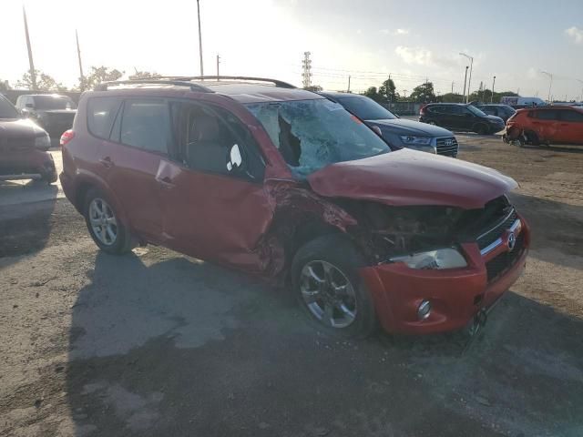
[[[583,108],[531,107],[508,118],[505,140],[583,145]]]

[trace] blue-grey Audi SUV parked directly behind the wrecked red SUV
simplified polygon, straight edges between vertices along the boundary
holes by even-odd
[[[382,107],[369,97],[358,94],[322,92],[323,97],[340,103],[370,127],[378,127],[386,141],[397,147],[413,148],[424,152],[457,157],[455,135],[443,127],[413,120],[404,120]]]

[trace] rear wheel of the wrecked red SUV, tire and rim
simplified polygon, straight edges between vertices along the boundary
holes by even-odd
[[[85,221],[99,249],[118,255],[131,250],[131,236],[105,193],[97,189],[87,192]]]

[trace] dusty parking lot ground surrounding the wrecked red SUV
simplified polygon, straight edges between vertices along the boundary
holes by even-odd
[[[517,178],[527,270],[456,335],[323,336],[286,290],[99,253],[61,198],[0,208],[0,436],[583,435],[583,153],[462,141]]]

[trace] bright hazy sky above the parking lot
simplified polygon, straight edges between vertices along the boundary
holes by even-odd
[[[22,6],[35,66],[66,86],[78,81],[75,30],[85,71],[108,66],[199,75],[196,0],[3,0],[0,79],[28,69]],[[441,94],[464,87],[463,52],[474,57],[472,90],[484,82],[521,96],[583,94],[583,1],[200,0],[204,72],[279,78],[363,91],[389,76],[399,93],[432,81]]]

